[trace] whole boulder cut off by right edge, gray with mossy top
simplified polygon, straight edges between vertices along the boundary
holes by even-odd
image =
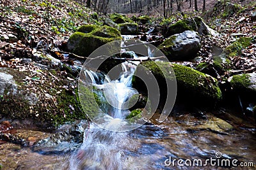
[[[256,101],[256,73],[238,74],[228,78],[232,92],[244,96],[249,101]]]

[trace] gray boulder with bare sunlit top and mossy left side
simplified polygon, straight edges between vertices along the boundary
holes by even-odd
[[[200,36],[195,31],[174,34],[159,45],[159,49],[169,60],[193,59],[200,48]]]

